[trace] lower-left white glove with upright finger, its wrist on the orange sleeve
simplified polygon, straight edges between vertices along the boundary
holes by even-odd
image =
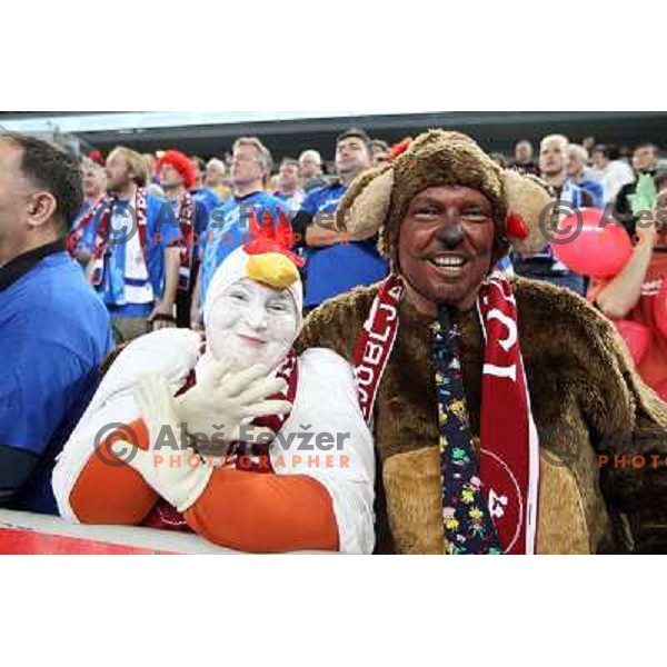
[[[176,402],[162,376],[152,374],[138,378],[135,400],[148,430],[149,448],[148,451],[137,449],[127,464],[165,500],[183,512],[201,496],[213,468],[201,460],[191,447],[182,448]],[[171,429],[171,432],[165,429]],[[178,449],[169,446],[175,441]],[[156,450],[157,442],[161,447]],[[112,449],[126,449],[127,446],[127,442],[120,441]]]

